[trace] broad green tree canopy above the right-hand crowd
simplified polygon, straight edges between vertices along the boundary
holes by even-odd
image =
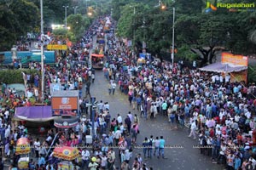
[[[245,55],[256,52],[255,11],[244,9],[232,12],[227,8],[218,8],[217,11],[207,12],[206,2],[202,0],[162,1],[162,4],[166,5],[164,9],[152,3],[149,5],[146,1],[125,2],[125,7],[119,7],[119,13],[114,15],[119,20],[118,33],[129,39],[134,37],[136,45],[140,46],[137,48],[141,48],[142,42],[146,42],[147,50],[151,53],[166,52],[166,57],[170,59],[172,7],[174,7],[176,11],[174,45],[178,51],[177,57],[196,59],[201,65],[206,65],[212,63],[219,49]],[[216,6],[217,2],[211,3]],[[242,2],[250,3],[250,1]],[[113,0],[113,4],[120,3],[124,2]],[[241,1],[232,1],[232,3],[241,3]],[[138,8],[136,14],[132,14],[131,6]]]

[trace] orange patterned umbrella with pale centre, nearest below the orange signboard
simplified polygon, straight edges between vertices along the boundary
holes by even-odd
[[[79,157],[79,150],[75,147],[55,147],[53,153],[53,156],[67,161],[73,161],[74,159]]]

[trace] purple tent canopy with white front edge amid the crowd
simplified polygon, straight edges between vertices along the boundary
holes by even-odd
[[[54,120],[51,106],[16,107],[15,118],[31,122],[48,122]]]

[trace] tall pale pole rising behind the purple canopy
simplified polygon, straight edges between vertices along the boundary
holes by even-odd
[[[40,0],[40,13],[41,13],[41,92],[42,103],[44,103],[44,18],[43,18],[43,0]]]

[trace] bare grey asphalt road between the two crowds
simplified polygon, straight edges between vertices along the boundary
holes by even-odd
[[[102,100],[103,102],[108,101],[112,118],[116,117],[118,113],[125,117],[128,111],[139,114],[137,110],[132,110],[128,102],[128,97],[125,94],[121,94],[118,88],[114,95],[108,94],[108,81],[105,79],[102,71],[96,71],[96,81],[91,84],[90,87],[90,94],[91,96],[96,97],[96,100]],[[142,144],[145,137],[153,135],[154,138],[156,136],[164,136],[167,145],[182,144],[183,148],[166,148],[166,159],[157,159],[157,157],[153,157],[152,159],[143,160],[147,163],[148,167],[153,167],[155,170],[222,169],[218,164],[212,164],[209,156],[203,156],[200,154],[199,149],[193,148],[193,145],[198,144],[198,141],[187,137],[189,134],[189,129],[187,127],[184,129],[173,129],[166,119],[167,118],[164,116],[157,116],[155,120],[147,121],[141,118],[140,133],[137,137],[137,144]],[[134,149],[133,156],[136,156],[137,153],[141,153],[143,155],[143,150],[138,148]],[[119,163],[116,163],[116,166],[119,167]]]

